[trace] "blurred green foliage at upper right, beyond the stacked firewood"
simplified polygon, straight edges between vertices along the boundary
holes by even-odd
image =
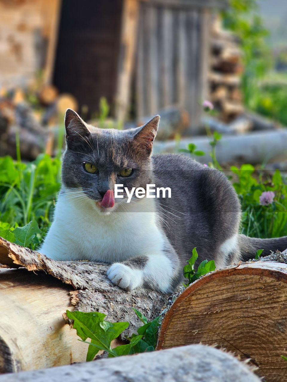
[[[245,105],[287,125],[286,78],[284,74],[274,78],[270,71],[274,63],[266,42],[268,31],[258,15],[258,1],[229,0],[229,4],[222,13],[223,25],[240,39],[245,68],[241,81]],[[264,84],[265,79],[267,83]]]

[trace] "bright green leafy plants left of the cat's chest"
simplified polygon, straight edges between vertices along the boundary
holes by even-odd
[[[59,188],[59,158],[41,154],[23,163],[0,157],[0,236],[36,248],[50,225]]]

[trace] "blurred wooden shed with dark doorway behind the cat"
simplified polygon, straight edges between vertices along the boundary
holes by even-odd
[[[2,76],[23,83],[43,70],[46,83],[76,97],[80,114],[87,106],[85,117],[98,112],[101,97],[118,121],[140,121],[176,105],[188,112],[195,134],[199,104],[208,96],[210,17],[225,5],[225,0],[0,0],[2,28],[7,21],[11,29],[7,47],[0,46],[0,59],[10,60]],[[19,19],[15,26],[9,21],[13,14]],[[10,59],[11,44],[16,50]]]

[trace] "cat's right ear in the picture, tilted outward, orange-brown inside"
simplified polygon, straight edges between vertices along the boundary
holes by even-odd
[[[152,152],[152,145],[157,135],[158,123],[160,116],[156,115],[145,125],[138,127],[134,135],[134,141],[141,147],[143,147],[148,154]]]

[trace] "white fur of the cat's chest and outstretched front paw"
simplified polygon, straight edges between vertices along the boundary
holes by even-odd
[[[146,279],[153,284],[150,286],[167,291],[173,267],[163,254],[163,246],[154,199],[145,197],[129,204],[117,199],[114,207],[103,209],[85,194],[70,196],[63,189],[39,251],[54,260],[116,262],[108,277],[121,288],[133,289]],[[117,263],[138,255],[149,257],[143,270]]]

